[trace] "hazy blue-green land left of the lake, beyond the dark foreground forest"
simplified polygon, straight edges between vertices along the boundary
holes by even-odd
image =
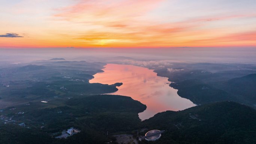
[[[102,72],[101,69],[105,65],[103,63],[53,60],[0,69],[1,100],[11,106],[56,96],[69,98],[77,95],[106,94],[117,91],[116,86],[121,85],[89,83],[92,75]],[[0,108],[3,107],[0,105]]]

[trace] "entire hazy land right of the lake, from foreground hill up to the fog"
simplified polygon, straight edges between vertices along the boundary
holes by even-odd
[[[235,101],[256,108],[256,67],[249,64],[173,64],[173,69],[155,70],[169,78],[179,96],[195,104]],[[181,70],[182,69],[182,70]],[[248,75],[248,76],[247,76]]]

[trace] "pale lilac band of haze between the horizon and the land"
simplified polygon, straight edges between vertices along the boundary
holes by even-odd
[[[0,62],[18,64],[42,59],[101,61],[143,67],[164,66],[170,62],[256,63],[255,48],[42,48],[0,49]]]

